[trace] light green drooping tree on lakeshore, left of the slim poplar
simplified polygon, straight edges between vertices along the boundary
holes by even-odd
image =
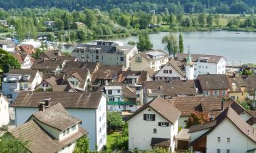
[[[166,44],[165,48],[167,48],[169,55],[172,55],[174,57],[175,54],[177,54],[177,50],[179,47],[175,35],[170,33],[170,35],[166,35],[165,37],[163,37],[162,44]]]

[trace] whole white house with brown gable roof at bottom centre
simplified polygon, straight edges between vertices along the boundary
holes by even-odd
[[[174,152],[180,111],[160,96],[134,112],[128,118],[129,150],[166,148]]]

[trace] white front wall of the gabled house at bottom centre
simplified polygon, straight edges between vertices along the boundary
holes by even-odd
[[[158,122],[169,122],[153,109],[149,111],[149,107],[128,120],[129,133],[129,150],[138,148],[139,150],[152,150],[150,146],[152,137],[171,139],[173,135],[173,124],[169,126],[158,126]],[[155,114],[155,121],[143,120],[143,114]],[[153,129],[157,129],[157,133],[153,133]],[[177,129],[177,127],[175,127]],[[176,130],[175,130],[176,131]],[[177,133],[174,133],[177,134]]]

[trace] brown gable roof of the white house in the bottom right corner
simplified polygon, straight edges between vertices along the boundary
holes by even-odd
[[[205,123],[205,124],[198,124],[198,125],[194,125],[194,126],[190,127],[190,130],[188,131],[188,133],[193,133],[195,131],[201,131],[201,130],[204,130],[204,129],[210,129],[209,131],[207,131],[206,133],[204,133],[203,135],[201,135],[200,137],[195,139],[195,141],[192,141],[190,143],[190,145],[195,144],[201,138],[203,138],[204,136],[211,133],[216,128],[216,126],[221,124],[221,122],[223,122],[223,120],[225,120],[226,118],[229,119],[238,128],[238,130],[241,131],[241,133],[246,135],[246,137],[248,137],[252,141],[256,142],[256,133],[254,133],[253,127],[250,126],[249,124],[247,124],[236,113],[236,111],[233,110],[232,107],[227,107],[221,114],[219,114],[217,116],[216,120],[214,120],[212,122]]]

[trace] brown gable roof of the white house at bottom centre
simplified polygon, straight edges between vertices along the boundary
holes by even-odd
[[[130,116],[130,118],[128,118],[128,120],[130,120],[132,117],[139,114],[141,111],[143,111],[147,107],[151,107],[152,109],[154,109],[155,112],[160,114],[160,116],[162,116],[163,118],[165,118],[172,124],[175,123],[175,121],[180,117],[180,114],[181,114],[177,108],[173,107],[173,105],[170,105],[170,103],[168,103],[168,101],[166,101],[165,99],[162,99],[162,97],[158,96],[155,99],[153,99],[152,101],[145,103],[145,105],[143,105],[136,112],[134,112],[134,114],[132,114],[132,116]]]

